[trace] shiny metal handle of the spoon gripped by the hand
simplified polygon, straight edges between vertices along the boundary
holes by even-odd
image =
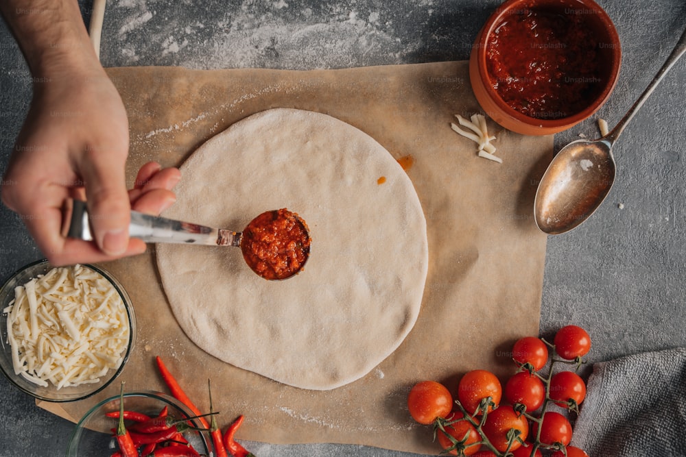
[[[71,202],[67,236],[91,241],[91,224],[85,201]],[[183,243],[210,246],[239,246],[241,234],[231,230],[205,227],[204,225],[155,217],[150,214],[132,211],[129,235],[145,243]]]

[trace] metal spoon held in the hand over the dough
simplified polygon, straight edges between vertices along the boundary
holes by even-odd
[[[263,269],[264,265],[258,266],[258,260],[255,256],[250,254],[250,249],[253,243],[253,236],[255,234],[255,223],[263,223],[270,220],[271,214],[276,211],[268,211],[260,214],[255,219],[252,219],[246,226],[243,232],[234,232],[233,230],[217,229],[213,227],[206,227],[196,223],[176,221],[175,219],[167,219],[165,217],[151,216],[150,214],[143,214],[142,212],[131,211],[131,221],[129,223],[129,236],[132,238],[139,238],[145,243],[176,243],[189,245],[207,245],[207,246],[229,246],[239,247],[243,251],[244,259],[248,267],[255,271],[257,275],[268,280],[285,280],[299,273],[307,259],[309,258],[309,229],[303,219],[300,219],[297,214],[285,210],[285,214],[290,221],[295,221],[299,224],[298,229],[307,238],[307,246],[303,247],[304,260],[300,262],[297,269],[283,269],[279,267],[277,271],[272,269],[269,265],[268,270]],[[62,223],[62,234],[69,238],[78,238],[81,240],[92,241],[93,234],[91,232],[91,224],[88,216],[88,208],[85,201],[68,200],[64,205],[64,221]],[[281,232],[283,233],[283,232]],[[247,243],[246,243],[247,240]],[[259,243],[259,241],[257,241]]]

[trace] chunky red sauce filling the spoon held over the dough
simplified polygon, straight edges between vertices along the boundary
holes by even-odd
[[[252,219],[241,238],[248,266],[266,280],[285,280],[298,273],[309,256],[307,224],[285,208]]]

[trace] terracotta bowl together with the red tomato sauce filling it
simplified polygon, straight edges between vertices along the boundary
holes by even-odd
[[[621,60],[617,30],[593,0],[508,0],[477,36],[469,77],[499,125],[547,135],[600,109]]]

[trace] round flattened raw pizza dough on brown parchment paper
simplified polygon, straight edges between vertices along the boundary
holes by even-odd
[[[157,246],[176,320],[204,351],[327,390],[362,378],[402,343],[422,301],[426,221],[379,143],[331,116],[274,109],[217,134],[181,171],[163,216],[240,231],[288,208],[312,238],[305,269],[284,281],[252,273],[237,248]]]

